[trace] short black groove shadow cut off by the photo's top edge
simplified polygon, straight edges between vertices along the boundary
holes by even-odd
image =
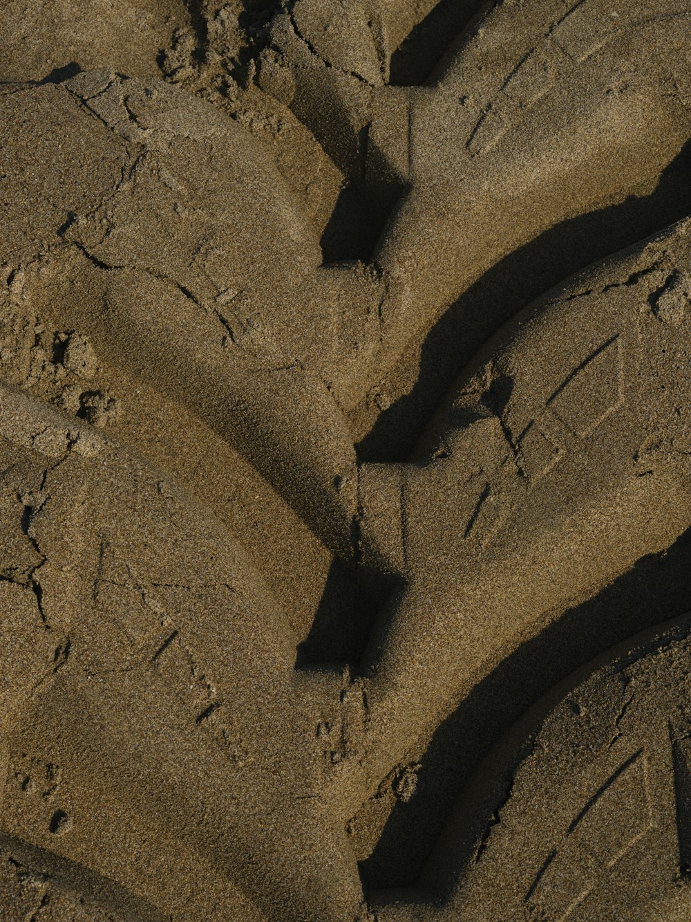
[[[389,83],[394,87],[426,83],[482,6],[486,3],[481,0],[441,0],[392,53]]]

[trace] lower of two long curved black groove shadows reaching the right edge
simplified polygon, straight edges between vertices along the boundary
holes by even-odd
[[[419,878],[478,762],[557,682],[632,634],[689,609],[691,528],[669,550],[642,558],[509,656],[435,732],[417,775],[415,797],[396,802],[379,842],[360,864],[368,887],[410,886]],[[469,831],[467,841],[457,845],[454,860],[463,857],[464,849],[470,858],[474,835]]]

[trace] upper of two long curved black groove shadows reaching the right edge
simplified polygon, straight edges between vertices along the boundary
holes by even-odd
[[[691,142],[650,195],[632,195],[620,205],[557,224],[500,260],[427,334],[415,386],[357,444],[360,460],[405,461],[454,378],[500,326],[573,273],[689,214]]]

